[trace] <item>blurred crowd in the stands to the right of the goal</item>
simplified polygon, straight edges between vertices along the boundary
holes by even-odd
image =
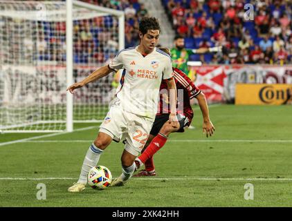
[[[292,63],[289,0],[161,1],[176,34],[185,38],[186,48],[223,46],[221,53],[192,55],[190,60],[208,64]],[[249,13],[250,9],[253,12]]]

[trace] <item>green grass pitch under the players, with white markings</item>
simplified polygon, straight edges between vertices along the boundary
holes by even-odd
[[[38,139],[26,138],[42,134],[1,134],[0,206],[292,206],[292,106],[211,106],[216,131],[209,138],[194,109],[195,129],[170,135],[155,155],[156,177],[103,191],[67,192],[98,125]],[[121,173],[122,150],[113,142],[98,163],[113,177]],[[46,200],[37,200],[39,183]],[[253,200],[244,198],[248,183]]]

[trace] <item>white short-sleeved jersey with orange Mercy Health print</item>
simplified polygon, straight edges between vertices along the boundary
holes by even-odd
[[[116,93],[122,108],[154,120],[161,80],[173,76],[172,59],[158,48],[145,57],[137,49],[138,46],[120,50],[109,68],[124,69]]]

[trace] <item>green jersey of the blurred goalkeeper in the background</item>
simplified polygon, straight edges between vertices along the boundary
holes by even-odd
[[[188,68],[188,60],[190,55],[192,55],[192,50],[183,48],[182,50],[177,50],[176,48],[172,48],[172,66],[174,68],[179,68],[184,73],[189,75],[190,71]]]

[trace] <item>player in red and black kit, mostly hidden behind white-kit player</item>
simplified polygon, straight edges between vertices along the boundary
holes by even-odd
[[[167,48],[160,48],[164,52],[170,54]],[[194,85],[192,80],[183,73],[183,71],[178,68],[173,68],[174,70],[174,79],[176,82],[177,88],[177,119],[179,120],[179,127],[171,126],[168,121],[170,115],[169,98],[167,93],[163,93],[163,91],[167,91],[166,82],[161,82],[161,94],[160,94],[160,102],[158,106],[158,113],[156,114],[156,118],[154,124],[152,126],[152,131],[148,137],[147,143],[143,149],[142,155],[136,158],[136,170],[145,164],[145,170],[140,171],[138,174],[134,176],[151,176],[156,175],[154,168],[153,155],[165,145],[167,141],[168,135],[174,132],[184,132],[185,128],[188,128],[192,122],[192,117],[194,115],[192,111],[192,107],[190,105],[190,99],[196,98],[198,100],[198,104],[201,108],[201,112],[203,115],[203,133],[206,133],[206,136],[212,136],[215,131],[215,127],[210,121],[208,104],[206,102],[206,97]],[[183,95],[181,93],[183,92]]]

